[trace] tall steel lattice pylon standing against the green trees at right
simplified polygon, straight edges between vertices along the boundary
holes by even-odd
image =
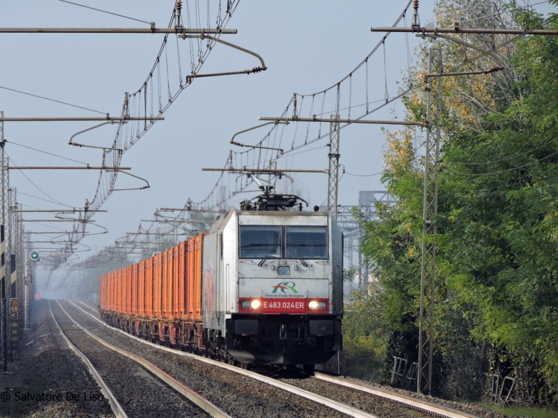
[[[442,49],[430,48],[428,74],[437,68],[442,74]],[[432,391],[432,353],[434,339],[434,303],[436,281],[436,216],[438,212],[438,172],[442,78],[436,78],[437,92],[432,95],[432,77],[428,77],[426,109],[426,150],[424,161],[423,248],[421,265],[421,313],[418,323],[418,378],[416,392]],[[432,120],[434,116],[434,120]]]

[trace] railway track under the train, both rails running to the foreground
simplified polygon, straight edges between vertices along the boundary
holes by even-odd
[[[197,355],[189,353],[181,353],[170,348],[157,346],[156,344],[138,339],[136,336],[130,335],[122,330],[109,327],[102,320],[96,317],[91,312],[93,308],[86,304],[89,311],[84,310],[82,307],[77,306],[74,302],[70,302],[75,308],[80,309],[87,316],[95,319],[103,327],[108,327],[110,330],[115,330],[123,335],[130,337],[135,341],[141,341],[148,346],[152,346],[158,350],[164,350],[174,355],[183,357],[191,357],[199,362],[218,366],[222,369],[234,371],[243,376],[264,382],[268,385],[278,387],[280,389],[302,396],[315,402],[323,403],[324,405],[333,408],[338,412],[342,412],[352,417],[451,417],[451,418],[474,418],[476,415],[462,412],[460,410],[453,410],[444,405],[437,405],[428,401],[413,398],[391,392],[379,387],[364,385],[359,382],[351,382],[342,378],[335,378],[328,376],[324,373],[315,373],[311,379],[296,376],[296,373],[287,373],[269,368],[257,368],[258,373],[255,371],[246,371],[238,367],[229,366],[216,362],[215,360],[206,359]]]

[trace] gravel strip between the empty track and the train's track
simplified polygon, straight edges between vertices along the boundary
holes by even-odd
[[[232,417],[347,417],[347,415],[324,405],[308,401],[238,373],[185,356],[163,352],[140,341],[134,341],[116,330],[101,325],[70,302],[62,302],[62,304],[68,314],[72,315],[80,325],[87,327],[88,330],[114,346],[125,348],[131,353],[141,355],[153,362],[175,379],[208,398]],[[88,310],[86,309],[86,311]]]

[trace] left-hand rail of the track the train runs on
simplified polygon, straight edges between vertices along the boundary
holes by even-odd
[[[92,318],[95,318],[95,316],[89,314],[89,312],[86,312],[82,308],[78,307],[73,301],[70,300],[68,302],[70,302],[75,307],[77,307],[77,309],[80,309],[82,312],[84,312],[84,314],[87,314],[87,315],[91,316]],[[177,355],[183,355],[185,357],[190,357],[192,359],[196,359],[200,362],[204,362],[204,363],[207,363],[207,364],[211,364],[213,366],[218,366],[218,367],[221,367],[223,369],[227,369],[229,371],[233,371],[234,373],[239,373],[239,374],[241,374],[243,376],[246,376],[248,378],[252,378],[254,380],[258,380],[259,382],[267,383],[268,385],[271,385],[273,387],[277,387],[278,389],[285,390],[285,392],[290,392],[290,393],[295,394],[297,396],[301,396],[302,398],[306,398],[310,401],[313,401],[313,402],[316,402],[316,403],[319,403],[319,404],[322,404],[322,405],[326,405],[333,410],[337,410],[339,412],[342,412],[344,414],[349,415],[349,417],[379,418],[376,415],[369,414],[368,412],[364,412],[364,411],[359,410],[357,408],[354,408],[350,405],[345,405],[344,403],[333,401],[329,398],[326,398],[325,396],[309,392],[305,389],[301,389],[299,387],[289,385],[288,383],[285,383],[285,382],[280,382],[279,380],[268,378],[267,376],[262,376],[258,373],[253,372],[253,371],[239,369],[239,367],[230,366],[229,364],[224,364],[224,363],[221,363],[221,362],[216,362],[215,360],[206,359],[204,357],[200,357],[199,355],[193,355],[193,354],[190,354],[190,353],[183,353],[183,352],[178,351],[178,350],[173,350],[172,348],[157,346],[156,344],[150,343],[149,341],[145,341],[143,339],[137,338],[134,335],[128,334],[128,333],[124,332],[123,330],[119,330],[118,328],[110,327],[109,325],[105,324],[102,320],[100,320],[98,318],[95,318],[95,319],[98,320],[98,322],[105,325],[106,327],[109,327],[111,330],[116,330],[116,331],[122,332],[122,334],[127,335],[132,339],[136,339],[137,341],[142,341],[142,343],[146,343],[148,346],[153,346],[155,348],[159,348],[160,350],[168,351],[169,353],[174,353],[174,354],[177,354]]]

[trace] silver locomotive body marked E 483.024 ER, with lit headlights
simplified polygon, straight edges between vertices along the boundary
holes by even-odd
[[[331,213],[231,210],[204,238],[205,344],[245,364],[326,362],[342,348],[342,270]]]

